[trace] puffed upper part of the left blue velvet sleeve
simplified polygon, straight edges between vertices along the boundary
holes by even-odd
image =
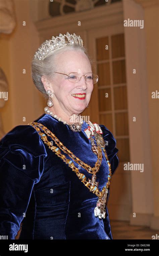
[[[18,125],[0,140],[2,159],[37,183],[40,180],[44,158],[47,156],[43,141],[31,125]]]

